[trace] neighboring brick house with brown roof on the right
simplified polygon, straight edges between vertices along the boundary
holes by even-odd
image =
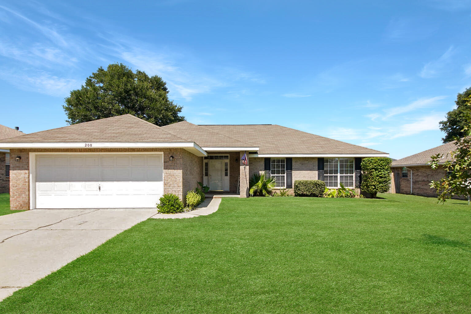
[[[450,158],[450,152],[456,149],[455,142],[434,147],[432,149],[407,156],[392,162],[392,193],[414,194],[436,197],[437,190],[430,188],[432,180],[440,180],[447,176],[447,171],[441,167],[432,169],[429,162],[431,156],[443,154],[439,164]]]

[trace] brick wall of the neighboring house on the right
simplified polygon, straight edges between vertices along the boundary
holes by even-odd
[[[419,167],[407,167],[412,169],[412,194],[437,197],[437,191],[430,188],[430,181],[440,180],[442,177],[447,175],[447,172],[443,168],[433,170],[430,166],[419,166]],[[391,192],[399,191],[401,194],[410,194],[411,193],[411,172],[408,170],[408,177],[403,178],[402,168],[395,167],[392,168],[392,172],[398,173],[398,175],[393,176],[391,186],[394,186],[394,189],[391,189]],[[399,177],[399,182],[394,180],[394,177]]]

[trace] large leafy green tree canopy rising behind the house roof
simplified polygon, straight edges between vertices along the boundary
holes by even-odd
[[[167,97],[161,77],[133,72],[124,64],[109,64],[93,72],[81,89],[70,92],[63,108],[75,124],[130,113],[158,126],[184,121],[182,107]]]

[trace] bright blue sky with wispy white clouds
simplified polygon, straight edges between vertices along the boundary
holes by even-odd
[[[69,91],[122,62],[162,76],[193,123],[280,124],[392,158],[440,145],[471,86],[471,0],[313,2],[0,1],[0,124],[64,126]]]

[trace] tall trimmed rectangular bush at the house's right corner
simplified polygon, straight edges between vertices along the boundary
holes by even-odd
[[[361,161],[361,191],[371,193],[388,192],[391,185],[391,160],[386,157],[370,157]]]

